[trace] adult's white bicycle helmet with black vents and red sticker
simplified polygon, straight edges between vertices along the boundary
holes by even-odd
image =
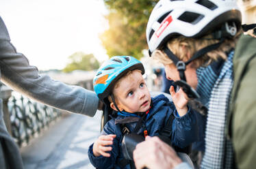
[[[235,0],[160,0],[154,7],[146,27],[149,53],[159,48],[170,37],[201,37],[219,29],[225,22],[233,36],[241,25],[241,13]]]

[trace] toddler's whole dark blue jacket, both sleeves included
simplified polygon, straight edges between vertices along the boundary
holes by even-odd
[[[198,137],[198,127],[196,125],[196,117],[192,109],[188,109],[188,113],[183,117],[177,117],[177,110],[175,105],[172,102],[169,102],[168,98],[164,95],[158,95],[152,99],[152,107],[149,111],[149,114],[146,117],[146,129],[148,130],[149,136],[157,136],[159,132],[166,125],[170,115],[173,113],[175,115],[175,119],[172,123],[172,144],[177,147],[187,147],[192,142],[196,141]],[[110,153],[110,157],[103,157],[102,155],[99,157],[95,157],[92,153],[93,144],[90,145],[88,150],[88,156],[90,162],[95,168],[120,168],[117,164],[120,159],[123,159],[123,153],[121,149],[121,142],[123,138],[123,134],[120,129],[120,123],[126,123],[126,127],[132,132],[136,127],[139,117],[135,117],[135,114],[127,114],[127,115],[118,115],[116,119],[111,119],[108,121],[101,135],[107,134],[116,134],[116,138],[114,138],[112,151]],[[127,121],[129,121],[127,123]],[[139,129],[138,134],[143,134],[143,129]],[[127,165],[125,168],[129,169],[130,166]]]

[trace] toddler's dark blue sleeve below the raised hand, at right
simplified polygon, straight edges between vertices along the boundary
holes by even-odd
[[[175,110],[174,115],[175,119],[172,123],[172,144],[184,148],[198,140],[199,129],[194,110],[189,107],[188,113],[183,117],[177,117],[177,110]]]

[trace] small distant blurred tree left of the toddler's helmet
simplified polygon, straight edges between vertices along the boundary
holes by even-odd
[[[68,57],[69,62],[62,70],[63,72],[72,72],[73,70],[96,70],[99,68],[99,61],[93,54],[86,55],[84,52],[75,52]]]

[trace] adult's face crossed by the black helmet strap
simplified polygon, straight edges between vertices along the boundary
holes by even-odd
[[[175,64],[172,63],[172,64],[164,65],[164,70],[166,71],[166,78],[168,80],[174,80],[174,81],[180,80],[179,72]],[[194,67],[191,67],[190,65],[186,66],[185,78],[188,84],[190,84],[191,87],[196,89],[197,77],[196,77],[196,69]]]

